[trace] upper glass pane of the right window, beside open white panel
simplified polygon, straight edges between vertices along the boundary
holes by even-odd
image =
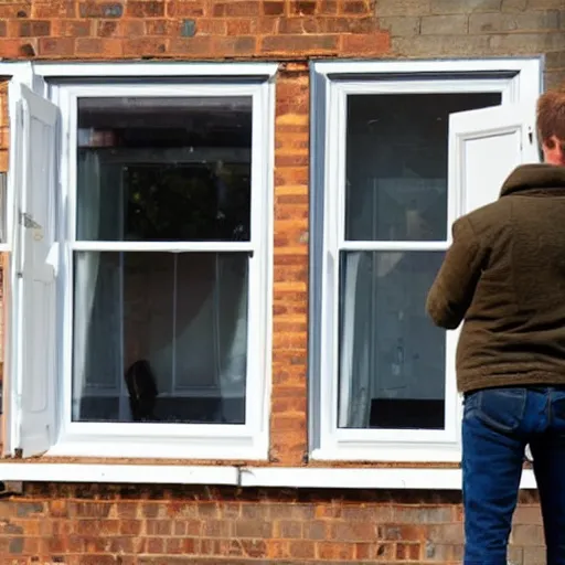
[[[444,241],[449,114],[500,93],[348,96],[345,238]]]

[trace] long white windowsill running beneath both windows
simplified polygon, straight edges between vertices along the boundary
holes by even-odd
[[[0,463],[0,481],[228,484],[297,489],[460,490],[459,469],[333,469],[178,465]],[[533,471],[521,489],[535,489]]]

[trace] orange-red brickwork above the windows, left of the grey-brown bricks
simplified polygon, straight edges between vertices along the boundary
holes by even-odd
[[[10,58],[382,55],[371,0],[35,0],[0,4]]]

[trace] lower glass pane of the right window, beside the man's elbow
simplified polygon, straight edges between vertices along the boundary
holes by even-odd
[[[426,316],[441,252],[341,254],[341,428],[444,428],[445,331]]]

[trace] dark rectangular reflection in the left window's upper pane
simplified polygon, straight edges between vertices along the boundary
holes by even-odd
[[[205,164],[127,168],[126,238],[248,238],[249,164],[218,169],[216,174]]]

